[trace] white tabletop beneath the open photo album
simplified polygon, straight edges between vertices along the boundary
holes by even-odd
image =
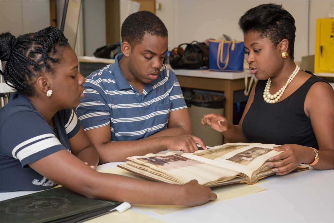
[[[103,164],[97,170],[122,163]],[[333,176],[333,170],[319,171],[310,167],[306,171],[265,178],[269,182],[258,186],[267,190],[243,197],[162,216],[152,211],[142,212],[135,207],[131,210],[165,222],[334,222]],[[31,192],[0,193],[0,200]]]

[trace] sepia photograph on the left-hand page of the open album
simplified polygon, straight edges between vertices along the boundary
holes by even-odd
[[[174,170],[187,166],[196,166],[203,164],[196,160],[191,160],[178,154],[169,156],[152,156],[146,158],[137,158],[144,163],[150,163],[163,170]]]

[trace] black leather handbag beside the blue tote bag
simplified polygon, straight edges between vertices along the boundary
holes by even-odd
[[[183,53],[179,47],[186,44]],[[192,41],[191,43],[182,43],[177,47],[178,55],[170,60],[173,69],[198,69],[208,68],[209,66],[209,47],[205,43]]]

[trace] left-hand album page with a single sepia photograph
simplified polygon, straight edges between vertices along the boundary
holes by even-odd
[[[137,164],[142,164],[138,165],[138,168],[147,166],[149,167],[146,169],[148,172],[164,175],[169,179],[178,179],[181,184],[193,179],[198,180],[199,184],[212,184],[218,180],[232,179],[240,174],[237,171],[191,160],[171,152],[161,155],[133,156],[128,157],[128,159]]]

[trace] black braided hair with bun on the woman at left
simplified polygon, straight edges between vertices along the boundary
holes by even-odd
[[[17,38],[7,33],[1,34],[1,60],[7,61],[1,74],[7,85],[18,92],[33,96],[34,79],[41,72],[53,72],[51,64],[61,59],[56,46],[69,46],[64,34],[54,26]],[[61,53],[61,51],[60,51]]]

